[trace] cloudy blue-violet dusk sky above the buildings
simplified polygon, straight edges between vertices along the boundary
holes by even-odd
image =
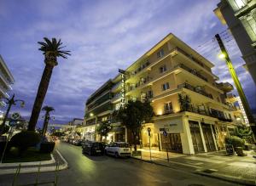
[[[59,59],[44,99],[43,105],[55,108],[55,123],[83,118],[85,100],[96,88],[170,32],[212,61],[221,82],[234,84],[224,61],[218,59],[217,42],[212,41],[227,29],[213,13],[218,2],[0,0],[0,54],[15,77],[12,93],[26,101],[25,108],[14,106],[11,111],[19,110],[26,118],[31,115],[44,70],[44,56],[38,50],[43,37],[61,38],[72,51],[68,59]],[[241,66],[236,42],[228,35],[224,41],[255,112],[253,80]]]

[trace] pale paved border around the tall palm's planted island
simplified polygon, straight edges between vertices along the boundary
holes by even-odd
[[[67,168],[67,161],[61,156],[60,152],[55,149],[50,161],[22,162],[22,163],[3,163],[0,164],[0,175],[14,174],[19,166],[20,173],[38,172],[38,165],[41,163],[40,172],[55,171],[56,165],[59,165],[59,170]]]

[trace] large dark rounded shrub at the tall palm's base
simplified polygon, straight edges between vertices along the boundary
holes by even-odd
[[[10,146],[19,149],[21,155],[28,147],[35,146],[40,142],[40,135],[33,131],[22,131],[16,133],[10,140]]]

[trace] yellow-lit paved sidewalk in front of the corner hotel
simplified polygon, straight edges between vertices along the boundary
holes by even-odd
[[[138,160],[152,162],[161,166],[180,168],[185,171],[201,174],[212,178],[220,178],[234,183],[256,185],[256,160],[253,159],[255,152],[244,151],[247,156],[226,155],[225,151],[201,153],[197,155],[183,155],[177,153],[152,150],[151,160],[149,149],[142,151],[142,157]]]

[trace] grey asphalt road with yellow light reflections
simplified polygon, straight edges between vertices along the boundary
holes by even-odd
[[[69,168],[59,172],[58,185],[236,185],[215,178],[207,178],[175,168],[157,166],[134,159],[111,156],[82,155],[81,147],[72,144],[57,144],[57,149],[67,160]],[[13,175],[2,175],[0,185],[11,185]],[[39,183],[54,180],[54,172],[43,172]],[[32,183],[35,174],[21,174],[19,183]]]

